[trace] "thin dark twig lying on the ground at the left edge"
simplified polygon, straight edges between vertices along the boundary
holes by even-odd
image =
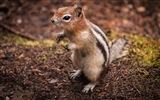
[[[14,34],[16,34],[16,35],[19,35],[19,36],[21,36],[21,37],[24,37],[24,38],[27,38],[27,39],[30,39],[30,40],[37,40],[37,41],[39,41],[39,40],[38,40],[37,38],[35,38],[34,36],[32,36],[32,35],[30,35],[30,34],[27,34],[27,35],[26,35],[26,34],[20,32],[20,31],[18,31],[18,30],[16,30],[16,29],[14,29],[14,28],[8,26],[8,25],[5,24],[5,23],[0,23],[0,26],[2,26],[3,28],[5,28],[5,29],[9,30],[10,32],[12,32],[12,33],[14,33]]]

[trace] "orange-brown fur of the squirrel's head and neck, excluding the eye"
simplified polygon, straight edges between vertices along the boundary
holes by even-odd
[[[68,16],[70,19],[64,20],[64,17]],[[84,12],[82,8],[76,4],[74,6],[59,8],[51,20],[57,26],[64,28],[65,31],[69,31],[74,34],[78,34],[87,29]]]

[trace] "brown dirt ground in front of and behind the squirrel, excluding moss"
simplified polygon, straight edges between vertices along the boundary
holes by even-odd
[[[72,3],[71,0],[0,1],[0,100],[160,99],[159,66],[143,70],[133,65],[134,58],[128,55],[109,65],[93,93],[84,94],[81,90],[88,80],[84,75],[69,79],[74,69],[71,53],[61,45],[31,46],[16,42],[14,34],[18,33],[25,38],[55,41],[61,30],[52,25],[50,18],[57,8]],[[86,17],[105,33],[110,29],[160,39],[159,0],[82,0],[80,4]]]

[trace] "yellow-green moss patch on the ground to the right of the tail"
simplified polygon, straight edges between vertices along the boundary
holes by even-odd
[[[130,41],[129,59],[133,65],[144,68],[158,67],[160,69],[160,40],[132,34],[119,34],[112,32],[108,37],[110,40],[125,36]]]

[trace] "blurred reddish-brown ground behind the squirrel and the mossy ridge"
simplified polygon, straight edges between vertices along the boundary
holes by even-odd
[[[144,34],[160,38],[159,0],[77,0],[86,17],[102,28],[116,32]],[[54,38],[57,28],[50,18],[74,0],[0,0],[0,32],[43,40]],[[3,27],[3,28],[2,28]]]

